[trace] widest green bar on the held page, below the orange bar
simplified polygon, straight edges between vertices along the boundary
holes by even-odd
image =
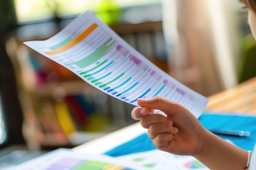
[[[103,57],[104,55],[106,55],[106,51],[108,49],[110,49],[110,47],[115,44],[115,40],[109,44],[108,42],[110,42],[112,40],[112,38],[108,39],[102,46],[100,46],[96,51],[94,51],[93,53],[91,53],[90,55],[88,55],[87,57],[77,61],[77,62],[72,62],[69,64],[66,64],[66,66],[70,66],[73,64],[76,64],[77,66],[79,66],[80,68],[85,68],[87,66],[90,66],[91,64],[93,64],[94,62],[96,62],[97,60],[101,59],[101,57]]]

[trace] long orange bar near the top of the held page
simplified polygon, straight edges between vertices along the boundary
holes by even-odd
[[[64,46],[62,46],[62,47],[60,47],[60,48],[58,48],[56,50],[47,51],[47,52],[45,52],[45,54],[47,54],[47,55],[54,55],[54,54],[58,54],[58,53],[61,53],[63,51],[66,51],[67,49],[70,49],[71,47],[73,47],[76,44],[78,44],[79,42],[81,42],[85,37],[87,37],[97,27],[98,27],[98,25],[96,23],[93,23],[88,29],[83,31],[83,33],[81,33],[78,37],[76,37],[71,42],[65,44]]]

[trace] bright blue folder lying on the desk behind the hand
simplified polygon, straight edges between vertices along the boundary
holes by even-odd
[[[223,139],[232,141],[236,146],[245,150],[253,150],[256,143],[256,117],[242,115],[221,115],[220,113],[204,112],[198,120],[207,129],[244,130],[249,131],[249,137],[234,137],[218,135]],[[136,152],[156,149],[148,135],[142,134],[116,148],[106,152],[106,155],[118,157]]]

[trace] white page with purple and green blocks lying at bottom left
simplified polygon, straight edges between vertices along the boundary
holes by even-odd
[[[94,155],[59,148],[4,170],[136,170],[107,155]]]

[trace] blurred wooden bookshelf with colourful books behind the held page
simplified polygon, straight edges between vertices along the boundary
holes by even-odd
[[[119,22],[110,27],[168,73],[160,7],[159,3],[124,7]],[[144,11],[141,15],[148,16],[146,13],[152,13],[152,9],[158,14],[151,20],[150,17],[125,19],[130,10]],[[67,68],[22,43],[45,40],[71,20],[21,24],[6,43],[24,117],[22,132],[30,150],[74,147],[136,122],[130,116],[133,105],[90,86]]]

